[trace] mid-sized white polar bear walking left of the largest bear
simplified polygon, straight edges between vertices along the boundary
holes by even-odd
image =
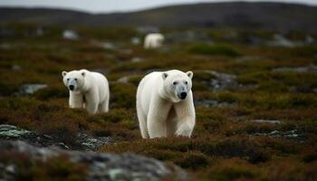
[[[86,108],[91,114],[108,112],[109,83],[101,73],[87,70],[62,71],[62,81],[70,90],[70,108]]]

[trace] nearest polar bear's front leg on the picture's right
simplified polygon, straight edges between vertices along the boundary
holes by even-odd
[[[195,107],[192,92],[188,93],[187,100],[181,101],[175,105],[175,111],[178,117],[176,135],[190,137],[195,127]]]

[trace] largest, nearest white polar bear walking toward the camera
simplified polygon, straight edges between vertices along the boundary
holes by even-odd
[[[192,71],[154,71],[137,90],[137,113],[142,138],[190,137],[195,127]]]

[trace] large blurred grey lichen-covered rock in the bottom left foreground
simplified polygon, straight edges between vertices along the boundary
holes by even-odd
[[[74,164],[88,168],[86,180],[159,180],[173,176],[181,180],[187,174],[178,167],[167,165],[157,159],[131,153],[112,154],[85,151],[67,151],[60,148],[36,148],[23,141],[0,141],[0,154],[24,154],[31,160],[52,160],[53,157],[66,156]],[[1,161],[1,160],[0,160]],[[30,162],[32,163],[32,162]],[[0,173],[4,180],[14,178],[19,170],[14,164],[0,162],[5,170]],[[14,170],[14,171],[13,171]],[[5,177],[10,176],[10,177]]]

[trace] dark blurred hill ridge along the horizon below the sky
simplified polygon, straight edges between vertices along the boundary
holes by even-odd
[[[233,27],[317,31],[317,6],[283,3],[172,5],[118,14],[86,14],[43,8],[0,8],[0,24],[31,23],[97,27]]]

